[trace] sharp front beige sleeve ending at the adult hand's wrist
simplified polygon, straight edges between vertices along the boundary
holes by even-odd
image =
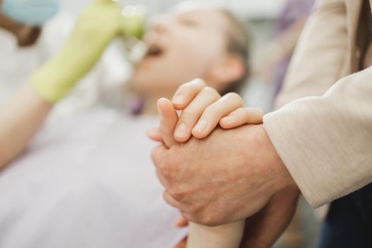
[[[372,67],[341,79],[324,96],[264,116],[264,127],[313,207],[372,182]]]

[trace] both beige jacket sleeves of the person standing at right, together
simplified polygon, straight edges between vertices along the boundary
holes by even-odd
[[[264,116],[313,207],[372,182],[372,68],[344,77],[346,35],[344,1],[318,1],[277,102],[291,103]]]

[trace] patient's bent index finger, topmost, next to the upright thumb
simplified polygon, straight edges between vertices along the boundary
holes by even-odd
[[[188,103],[190,103],[205,86],[205,81],[202,79],[193,79],[192,81],[179,86],[179,89],[177,89],[171,100],[174,104],[174,108],[177,110],[186,108]]]

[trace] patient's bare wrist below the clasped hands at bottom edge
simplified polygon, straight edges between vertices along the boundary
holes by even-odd
[[[244,220],[206,227],[190,222],[187,248],[238,248],[244,232]]]

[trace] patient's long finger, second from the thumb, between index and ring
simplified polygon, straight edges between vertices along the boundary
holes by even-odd
[[[174,131],[174,138],[178,142],[187,141],[191,137],[191,130],[205,111],[205,108],[218,101],[220,97],[220,94],[215,89],[204,87],[184,111],[182,111],[176,125],[176,130]]]

